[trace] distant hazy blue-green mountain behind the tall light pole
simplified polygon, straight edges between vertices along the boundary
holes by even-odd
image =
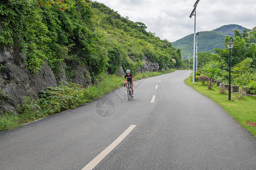
[[[239,29],[240,32],[243,29],[241,25],[230,24],[230,25],[223,25],[220,28],[213,29],[212,31],[203,31],[199,32],[198,36],[198,52],[214,52],[214,48],[225,48],[225,36],[234,36],[233,30]],[[250,29],[247,29],[250,31]],[[172,45],[175,48],[179,48],[181,50],[181,57],[187,58],[189,54],[193,56],[193,39],[194,34],[188,35],[179,39],[175,42],[172,42]]]

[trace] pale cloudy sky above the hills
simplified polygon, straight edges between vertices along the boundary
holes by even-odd
[[[189,18],[196,0],[96,0],[133,22],[146,24],[147,31],[174,42],[194,32]],[[256,26],[255,0],[201,0],[196,8],[196,32],[212,31],[227,24],[252,29]]]

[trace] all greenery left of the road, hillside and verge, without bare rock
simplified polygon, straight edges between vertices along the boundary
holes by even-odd
[[[137,73],[144,59],[158,63],[159,70],[180,68],[180,49],[146,28],[144,23],[132,22],[89,0],[0,1],[0,45],[22,52],[20,57],[32,74],[38,74],[48,61],[59,83],[41,91],[38,101],[24,97],[18,114],[0,113],[1,130],[75,108],[120,87],[121,78],[115,74],[121,66],[138,78],[162,74]],[[4,70],[7,63],[0,64]],[[78,73],[77,67],[86,69],[85,76],[93,86],[83,89],[69,83]],[[68,83],[60,82],[59,75]],[[1,102],[9,99],[1,91]]]

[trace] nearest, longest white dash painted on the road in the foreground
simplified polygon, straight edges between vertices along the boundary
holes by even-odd
[[[84,168],[81,170],[92,170],[98,163],[101,162],[102,159],[106,157],[115,147],[118,146],[119,143],[123,141],[127,137],[127,135],[135,128],[137,125],[131,125],[128,129],[126,129],[113,143],[111,143],[108,147],[105,148],[98,156],[96,156],[91,162],[89,162]]]

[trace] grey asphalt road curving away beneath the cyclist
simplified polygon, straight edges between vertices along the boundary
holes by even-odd
[[[94,160],[94,169],[255,169],[256,139],[188,87],[190,73],[138,80],[131,101],[122,87],[1,132],[0,169],[82,169]]]

